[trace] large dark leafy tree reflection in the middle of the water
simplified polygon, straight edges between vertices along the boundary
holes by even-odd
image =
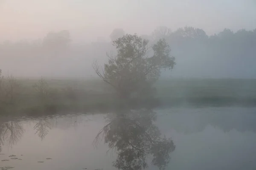
[[[170,138],[161,137],[154,121],[152,110],[129,111],[107,117],[108,124],[99,131],[94,144],[100,138],[108,143],[109,150],[115,150],[117,159],[113,166],[121,170],[141,170],[148,167],[147,158],[152,164],[164,170],[170,161],[169,154],[175,150]]]

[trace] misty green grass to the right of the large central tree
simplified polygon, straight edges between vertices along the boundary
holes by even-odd
[[[256,79],[170,79],[155,86],[164,105],[256,105]]]

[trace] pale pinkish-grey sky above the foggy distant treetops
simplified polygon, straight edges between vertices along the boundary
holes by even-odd
[[[150,34],[193,26],[214,34],[256,28],[256,0],[0,0],[0,41],[69,30],[73,41],[108,38],[114,28]]]

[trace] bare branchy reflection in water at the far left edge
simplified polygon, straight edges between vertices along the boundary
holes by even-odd
[[[17,144],[24,133],[24,128],[20,122],[5,122],[0,126],[0,152],[1,146],[7,144],[9,147]]]

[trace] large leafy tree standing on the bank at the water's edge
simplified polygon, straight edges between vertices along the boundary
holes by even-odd
[[[121,99],[151,96],[154,92],[152,85],[160,77],[162,69],[171,70],[175,65],[175,57],[170,56],[170,47],[164,39],[148,47],[148,40],[137,34],[126,34],[113,41],[113,45],[117,54],[107,54],[108,64],[101,70],[97,62],[93,68]]]

